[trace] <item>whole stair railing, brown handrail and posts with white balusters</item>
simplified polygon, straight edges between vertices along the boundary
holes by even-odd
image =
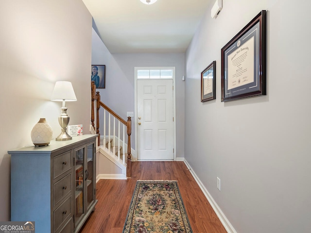
[[[125,164],[125,126],[126,126],[126,133],[127,133],[127,160],[126,160],[126,177],[132,176],[132,160],[131,160],[131,134],[132,134],[132,120],[131,117],[127,117],[127,121],[122,119],[119,115],[117,115],[114,111],[112,111],[108,106],[106,106],[101,101],[101,96],[99,92],[96,92],[96,85],[94,81],[91,81],[91,96],[92,96],[92,109],[91,109],[91,124],[94,128],[96,134],[98,134],[98,145],[101,145],[101,135],[99,132],[100,127],[100,117],[99,117],[99,110],[101,107],[104,108],[104,147],[106,145],[106,142],[108,142],[108,151],[111,151],[111,125],[113,127],[113,145],[112,145],[112,151],[115,155],[118,154],[118,160],[121,159],[121,145],[120,140],[122,136],[122,161],[123,164]],[[95,108],[96,108],[96,115],[95,115]],[[106,115],[108,119],[106,119]],[[113,117],[113,124],[111,123],[111,118]],[[96,127],[95,127],[95,123]],[[116,121],[118,124],[118,134],[116,135]],[[108,138],[106,138],[106,125],[108,125]],[[120,134],[120,130],[122,127],[122,135]],[[116,136],[118,137],[118,145],[116,146]],[[116,152],[117,150],[117,152]]]

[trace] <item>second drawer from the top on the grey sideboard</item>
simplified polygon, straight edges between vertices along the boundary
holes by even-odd
[[[54,206],[72,190],[72,175],[69,173],[60,181],[54,183]]]

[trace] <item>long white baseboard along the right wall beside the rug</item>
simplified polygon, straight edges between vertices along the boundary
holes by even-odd
[[[236,230],[233,228],[233,226],[231,225],[231,223],[229,222],[229,220],[226,218],[225,214],[223,213],[223,211],[220,209],[220,207],[217,205],[216,201],[212,198],[212,196],[209,194],[209,192],[207,191],[207,188],[203,185],[203,183],[200,181],[200,179],[198,178],[198,176],[195,174],[195,172],[192,170],[191,166],[188,164],[187,160],[184,159],[183,160],[184,163],[186,164],[186,166],[188,167],[190,173],[192,174],[194,180],[196,181],[196,183],[198,183],[199,187],[201,188],[202,192],[204,193],[205,197],[207,198],[209,204],[211,205],[211,207],[213,208],[213,210],[215,211],[216,215],[218,216],[218,218],[220,219],[220,221],[222,222],[222,224],[225,227],[225,230],[227,231],[227,233],[237,233]]]

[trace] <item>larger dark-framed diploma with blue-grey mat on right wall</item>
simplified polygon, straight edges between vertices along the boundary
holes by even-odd
[[[266,95],[266,11],[221,50],[222,102]]]

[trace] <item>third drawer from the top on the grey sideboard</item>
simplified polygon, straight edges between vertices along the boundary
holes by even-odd
[[[71,214],[71,196],[64,201],[55,211],[54,211],[54,232],[58,231],[58,228],[72,216]]]

